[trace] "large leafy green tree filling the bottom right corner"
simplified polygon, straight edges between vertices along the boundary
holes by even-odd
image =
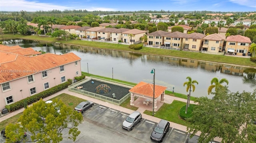
[[[192,117],[187,119],[191,122],[188,132],[192,136],[201,132],[198,143],[208,143],[214,137],[222,138],[222,143],[254,143],[255,134],[246,125],[251,127],[251,120],[256,117],[256,90],[230,93],[223,86],[214,94],[218,97],[214,100],[197,98],[198,106],[194,106]]]

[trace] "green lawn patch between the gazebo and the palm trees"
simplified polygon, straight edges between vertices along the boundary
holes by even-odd
[[[180,125],[188,126],[190,123],[179,117],[180,109],[185,106],[185,102],[174,100],[172,104],[164,103],[154,115],[157,118],[165,119]],[[146,110],[144,114],[152,116],[152,111]]]

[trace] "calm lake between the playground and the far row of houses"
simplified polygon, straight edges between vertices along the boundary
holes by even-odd
[[[186,77],[190,76],[192,80],[198,81],[196,90],[191,92],[191,96],[195,97],[213,97],[208,95],[207,89],[214,77],[226,78],[231,92],[252,92],[256,87],[254,69],[244,67],[31,40],[6,40],[3,44],[32,47],[36,51],[55,54],[73,52],[82,59],[82,71],[134,83],[152,83],[153,75],[150,72],[154,68],[155,84],[167,86],[169,91],[174,87],[174,92],[182,94],[188,94],[183,83],[188,81]]]

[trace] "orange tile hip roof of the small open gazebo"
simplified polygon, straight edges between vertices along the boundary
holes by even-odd
[[[155,98],[158,98],[166,90],[166,88],[167,87],[165,86],[155,85]],[[140,82],[136,86],[131,88],[129,92],[153,97],[154,84]]]

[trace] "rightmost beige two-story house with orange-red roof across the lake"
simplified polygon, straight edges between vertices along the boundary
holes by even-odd
[[[249,45],[252,41],[250,38],[242,35],[231,35],[226,38],[226,53],[228,50],[234,50],[236,55],[247,55],[249,51]]]

